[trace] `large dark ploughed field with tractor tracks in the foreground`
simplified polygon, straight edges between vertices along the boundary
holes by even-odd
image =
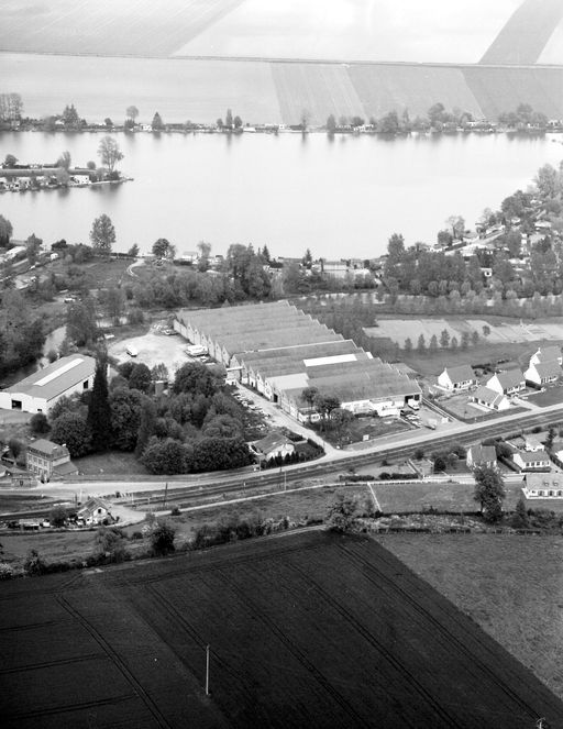
[[[563,724],[554,695],[372,540],[265,539],[0,599],[3,727]]]

